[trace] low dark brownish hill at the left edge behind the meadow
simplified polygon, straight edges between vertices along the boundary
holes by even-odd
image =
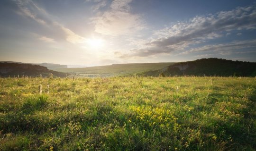
[[[61,73],[53,70],[49,70],[46,67],[31,65],[31,64],[19,64],[19,63],[0,63],[0,76],[49,76],[49,73],[54,76],[65,77],[66,73]]]

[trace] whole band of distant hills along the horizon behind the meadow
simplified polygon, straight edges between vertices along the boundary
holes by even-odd
[[[109,77],[134,74],[139,76],[256,76],[255,62],[217,58],[197,59],[179,63],[129,63],[77,68],[67,68],[66,65],[49,63],[4,62],[0,62],[0,76],[49,76],[49,73],[59,77],[67,75],[72,77]]]

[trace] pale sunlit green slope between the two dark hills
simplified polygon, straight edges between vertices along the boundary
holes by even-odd
[[[132,64],[115,64],[110,66],[83,67],[83,68],[61,68],[55,69],[60,72],[83,73],[83,74],[99,74],[107,76],[134,74],[149,70],[162,69],[174,63],[132,63]]]

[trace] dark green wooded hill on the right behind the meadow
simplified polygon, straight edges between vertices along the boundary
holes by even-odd
[[[147,76],[256,76],[256,63],[226,59],[197,59],[175,63],[167,68],[147,71]]]

